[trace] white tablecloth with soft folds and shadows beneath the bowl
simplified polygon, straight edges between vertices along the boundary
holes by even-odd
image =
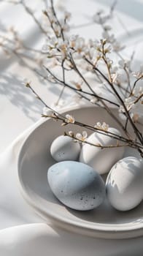
[[[34,1],[34,4],[39,5],[39,2]],[[112,1],[104,0],[79,0],[78,4],[75,0],[65,1],[70,11],[74,12],[76,23],[84,20],[84,15],[89,15],[90,10],[106,10],[111,3]],[[142,8],[143,1],[118,1],[117,15],[128,31],[142,31]],[[1,29],[15,25],[26,42],[34,46],[42,44],[42,40],[37,37],[39,31],[31,18],[24,14],[22,7],[12,7],[0,2],[0,14]],[[119,27],[119,24],[115,24],[115,31]],[[99,26],[96,29],[92,26],[91,29],[76,31],[86,37],[92,37],[93,32],[96,33],[95,37],[101,34]],[[120,29],[118,34],[123,33],[124,29]],[[127,55],[130,56],[132,50],[136,49],[136,41],[133,40],[133,34],[130,38],[125,37],[123,39],[128,41]],[[136,60],[143,56],[142,41],[138,46]],[[43,219],[23,200],[18,187],[18,153],[28,132],[34,129],[35,122],[40,118],[42,104],[22,86],[21,81],[23,78],[31,80],[34,88],[40,91],[49,105],[57,99],[58,94],[53,86],[46,86],[33,72],[18,63],[18,59],[6,59],[2,51],[0,54],[0,152],[4,151],[0,155],[0,255],[142,255],[142,238],[110,241],[68,233],[43,223]],[[28,129],[25,131],[26,128]]]

